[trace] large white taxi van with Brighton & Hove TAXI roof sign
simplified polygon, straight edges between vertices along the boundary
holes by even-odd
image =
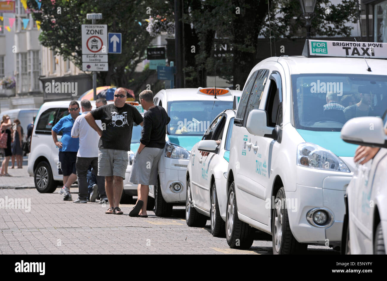
[[[303,56],[268,58],[250,72],[231,136],[230,247],[249,248],[253,228],[272,234],[274,254],[341,245],[356,145],[340,131],[355,116],[381,116],[387,101],[387,61],[365,61],[359,46],[387,58],[386,43],[307,40]]]

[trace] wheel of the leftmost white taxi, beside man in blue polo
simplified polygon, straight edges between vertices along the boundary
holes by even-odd
[[[47,161],[39,162],[34,171],[34,183],[40,193],[52,193],[58,187],[54,181],[50,164]]]

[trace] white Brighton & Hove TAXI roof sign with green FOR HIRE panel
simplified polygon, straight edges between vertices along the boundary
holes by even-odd
[[[303,56],[387,59],[387,43],[306,39]]]

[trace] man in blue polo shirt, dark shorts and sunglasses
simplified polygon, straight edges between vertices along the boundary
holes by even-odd
[[[79,139],[71,137],[71,129],[75,119],[79,116],[79,104],[75,100],[68,106],[68,114],[62,117],[51,129],[51,135],[56,146],[59,147],[59,162],[63,172],[63,187],[59,194],[63,194],[63,201],[72,201],[70,186],[77,180],[77,152]],[[58,141],[58,133],[62,131],[62,139]]]

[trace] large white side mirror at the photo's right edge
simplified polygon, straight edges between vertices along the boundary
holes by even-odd
[[[347,143],[387,148],[383,120],[379,117],[352,118],[342,126],[340,136]]]

